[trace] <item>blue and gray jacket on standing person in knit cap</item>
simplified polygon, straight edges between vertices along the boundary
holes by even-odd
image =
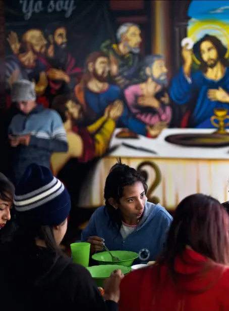
[[[53,152],[67,152],[66,131],[60,115],[51,109],[37,105],[29,114],[15,115],[8,128],[9,135],[31,135],[29,146],[12,148],[12,176],[17,183],[26,167],[37,163],[50,167]]]

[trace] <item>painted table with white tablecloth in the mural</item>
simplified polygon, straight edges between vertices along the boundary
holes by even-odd
[[[121,157],[123,163],[147,172],[148,199],[155,196],[167,209],[174,209],[187,195],[204,193],[220,202],[229,200],[227,181],[229,176],[229,147],[194,148],[176,146],[164,139],[168,135],[201,133],[210,134],[212,129],[165,129],[156,139],[118,139],[116,134],[111,147],[126,143],[147,148],[156,154],[134,150],[120,145],[116,151],[100,160],[90,181],[83,187],[80,206],[98,207],[104,204],[103,188],[110,167]]]

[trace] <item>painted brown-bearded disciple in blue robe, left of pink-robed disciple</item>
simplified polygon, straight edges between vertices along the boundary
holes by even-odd
[[[85,111],[85,124],[90,125],[104,115],[110,104],[122,102],[122,90],[108,83],[109,60],[102,52],[91,53],[86,60],[86,70],[81,83],[75,87],[77,101]],[[136,119],[125,105],[117,126],[151,137],[152,127]]]

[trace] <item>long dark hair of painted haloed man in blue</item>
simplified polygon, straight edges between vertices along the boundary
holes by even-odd
[[[228,67],[229,62],[227,59],[225,59],[226,48],[223,46],[222,42],[216,36],[206,34],[199,41],[197,41],[193,47],[193,52],[196,55],[197,59],[200,61],[200,70],[202,70],[205,73],[208,67],[205,61],[202,59],[200,51],[200,46],[204,41],[209,41],[212,43],[212,45],[217,50],[219,61],[223,66]]]

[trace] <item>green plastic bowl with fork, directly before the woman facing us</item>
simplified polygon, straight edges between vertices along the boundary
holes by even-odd
[[[99,264],[118,264],[123,266],[132,266],[133,261],[138,258],[138,254],[129,252],[127,250],[111,250],[113,256],[116,256],[120,261],[112,261],[108,252],[101,252],[92,255],[92,259],[96,260]]]

